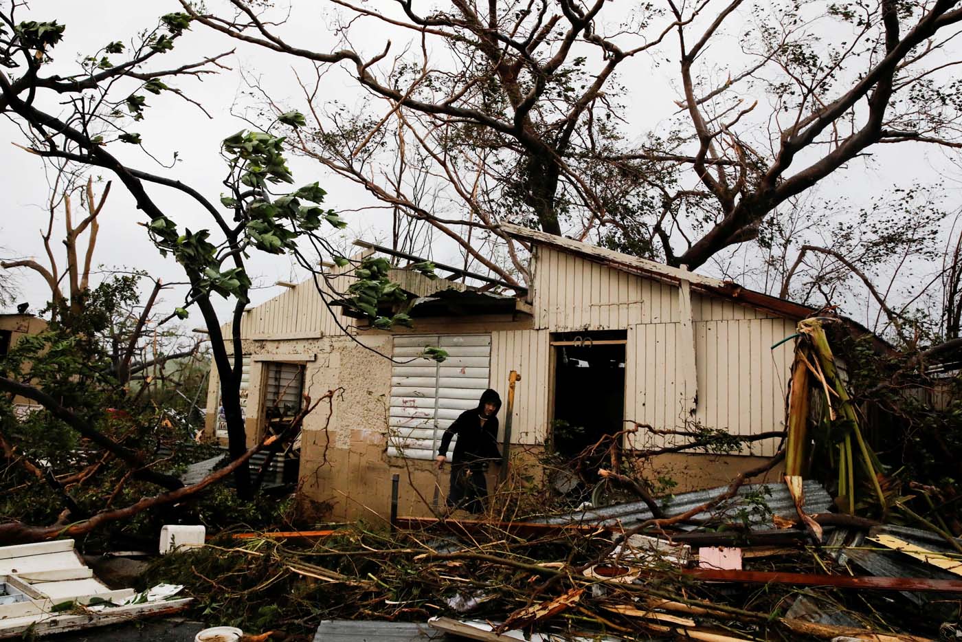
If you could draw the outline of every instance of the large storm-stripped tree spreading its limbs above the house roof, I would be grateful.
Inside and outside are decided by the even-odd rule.
[[[694,269],[879,145],[962,144],[949,70],[962,9],[950,0],[667,0],[627,13],[610,0],[423,11],[332,0],[341,40],[329,49],[294,41],[269,7],[231,0],[228,15],[181,4],[215,31],[313,65],[298,71],[314,108],[295,137],[301,151],[428,220],[505,279],[523,265],[514,256],[513,270],[488,265],[469,232],[519,221]],[[366,54],[351,38],[363,29],[405,44]],[[718,48],[727,64],[707,53]],[[630,83],[664,61],[680,90],[665,108],[678,111],[647,133],[626,116],[620,86],[638,90]],[[319,99],[335,66],[371,96],[363,113]],[[419,206],[381,170],[400,153],[429,163],[451,215]]]

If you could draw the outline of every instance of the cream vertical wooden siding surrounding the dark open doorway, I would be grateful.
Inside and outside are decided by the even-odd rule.
[[[683,333],[676,285],[543,245],[535,247],[534,262],[536,329],[493,334],[494,387],[504,395],[508,372],[522,376],[512,441],[544,440],[550,416],[549,333],[574,330],[627,330],[626,420],[675,429],[687,419],[745,435],[783,428],[793,345],[771,347],[795,332],[796,321],[721,296],[692,293],[692,329]],[[693,333],[694,382],[686,379],[691,369],[683,367],[681,349]],[[695,391],[691,415],[686,395]],[[644,448],[669,442],[646,435],[633,443]],[[771,439],[743,452],[771,455],[776,446]]]

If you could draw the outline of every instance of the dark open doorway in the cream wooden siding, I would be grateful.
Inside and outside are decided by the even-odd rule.
[[[621,429],[625,332],[565,333],[554,336],[551,344],[555,363],[553,447],[561,455],[574,457],[604,435]]]

